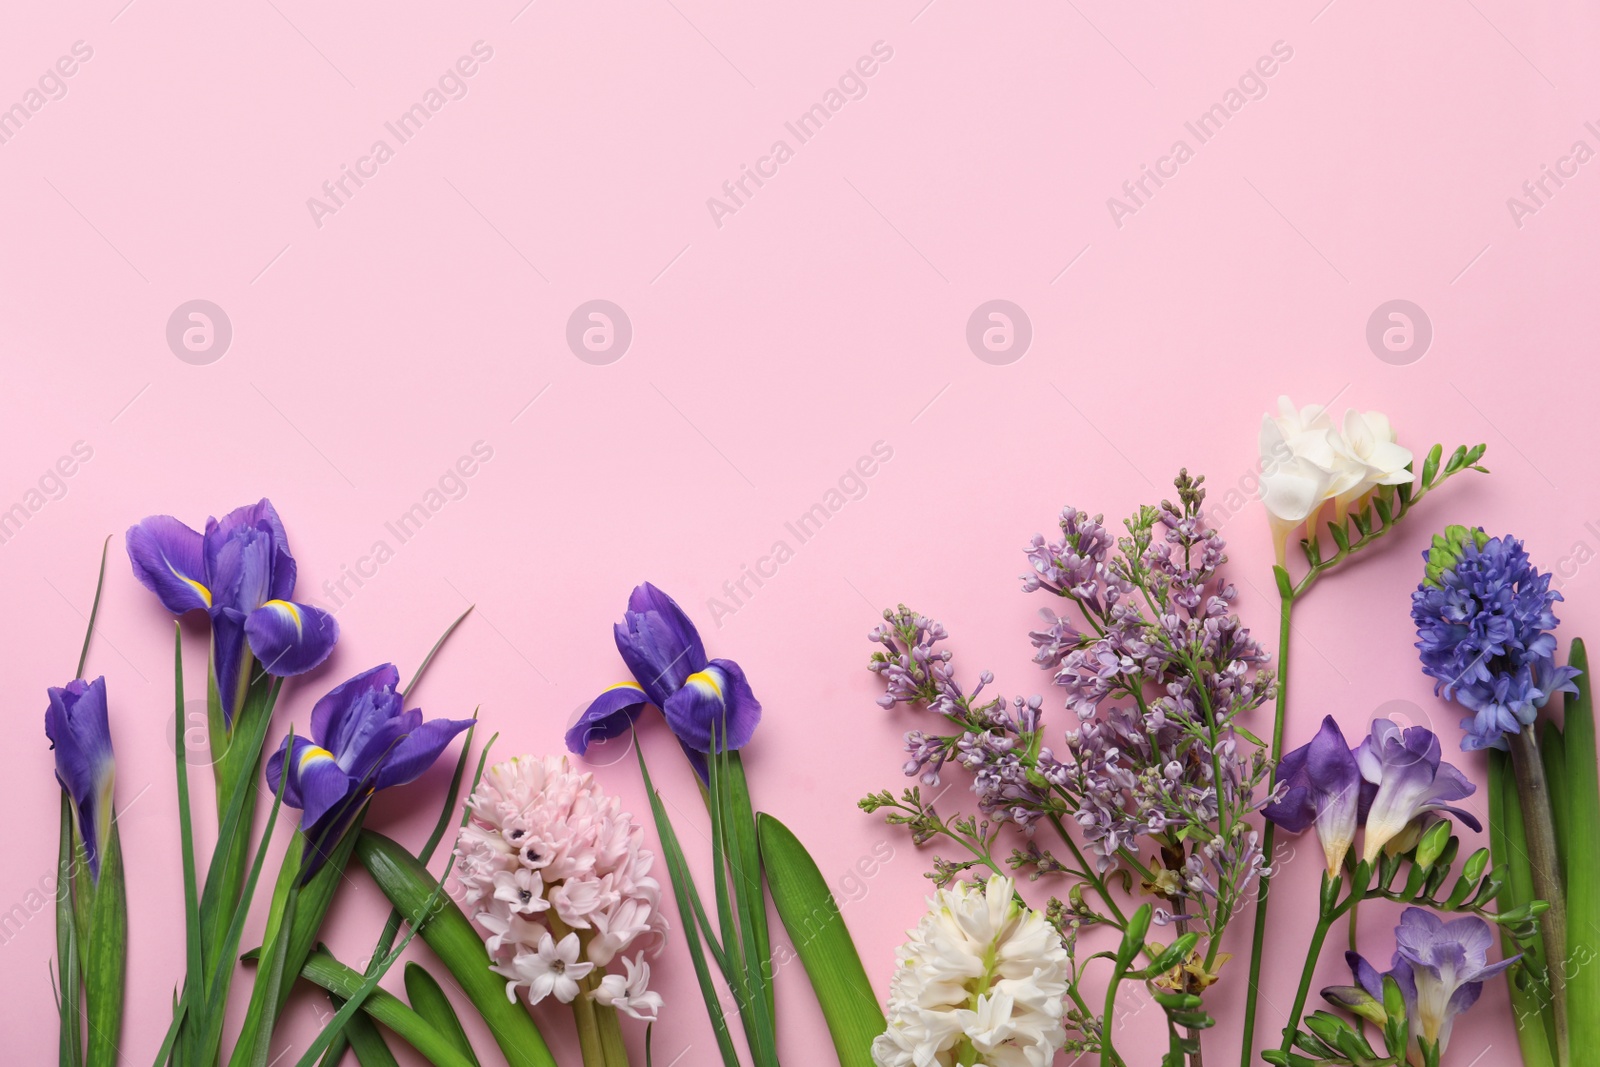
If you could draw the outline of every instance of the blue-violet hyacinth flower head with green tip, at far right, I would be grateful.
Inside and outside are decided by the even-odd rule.
[[[1555,665],[1552,605],[1562,593],[1533,566],[1522,541],[1450,526],[1422,553],[1411,593],[1422,670],[1434,691],[1472,712],[1461,747],[1506,749],[1557,693],[1573,693],[1573,667]]]

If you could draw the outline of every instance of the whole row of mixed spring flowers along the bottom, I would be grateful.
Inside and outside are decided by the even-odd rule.
[[[1427,526],[1427,498],[1488,474],[1483,454],[1413,453],[1371,411],[1336,418],[1285,398],[1264,416],[1275,646],[1235,609],[1238,565],[1208,520],[1205,478],[1189,470],[1173,499],[1120,523],[1069,504],[1050,536],[1019,533],[1021,589],[1048,606],[1016,637],[1048,694],[1002,696],[994,673],[955,665],[958,638],[938,621],[885,611],[866,659],[882,686],[875,713],[904,726],[904,752],[885,761],[901,760],[912,781],[858,806],[922,851],[928,886],[901,902],[906,941],[882,989],[781,822],[782,797],[746,777],[742,750],[762,741],[757,694],[781,681],[714,654],[728,649],[709,649],[664,590],[642,582],[626,597],[611,635],[621,680],[597,678],[544,750],[502,753],[480,737],[493,723],[478,721],[470,694],[450,697],[446,713],[411,701],[461,619],[408,675],[378,664],[333,686],[291,681],[328,659],[339,625],[294,600],[296,560],[272,504],[203,530],[144,518],[123,547],[133,577],[176,619],[170,822],[184,888],[184,971],[155,1064],[277,1062],[283,1006],[306,984],[331,1011],[298,1067],[392,1064],[395,1043],[438,1067],[549,1065],[552,1027],[576,1032],[587,1067],[629,1064],[629,1048],[651,1064],[651,1027],[701,1011],[717,1051],[696,1062],[774,1065],[782,936],[814,993],[814,1008],[798,1009],[816,1011],[811,1025],[826,1027],[843,1067],[1131,1067],[1117,1021],[1134,1001],[1158,1011],[1162,1067],[1202,1067],[1224,1003],[1243,1006],[1242,1067],[1470,1067],[1477,1053],[1451,1049],[1451,1030],[1491,982],[1507,987],[1523,1064],[1582,1064],[1600,1048],[1587,661],[1578,638],[1563,649],[1562,595],[1515,536]],[[1355,565],[1402,525],[1429,539],[1410,595],[1418,661],[1438,701],[1459,705],[1461,728],[1379,717],[1347,734],[1294,710],[1291,621],[1314,609],[1306,601],[1325,579],[1366,581]],[[96,609],[126,574],[107,555]],[[210,633],[203,673],[182,656],[182,629],[197,625]],[[86,677],[93,635],[91,613],[77,677],[42,680],[61,789],[50,981],[64,1067],[118,1062],[126,982],[152,981],[128,973],[133,873],[112,742],[123,726],[115,680]],[[186,696],[200,691],[206,790],[192,789],[182,737]],[[283,737],[269,750],[274,720]],[[632,760],[606,768],[586,760],[600,742],[662,729],[698,797],[658,790],[654,747],[646,758],[635,744]],[[1456,752],[1478,750],[1488,773],[1475,781]],[[440,760],[454,766],[442,795],[419,781]],[[648,813],[626,811],[614,792],[634,774]],[[382,790],[438,813],[419,851],[376,824]],[[214,795],[214,840],[195,832],[197,792]],[[1462,803],[1475,795],[1486,827]],[[808,803],[848,817],[851,800]],[[258,805],[269,805],[259,833]],[[686,813],[696,833],[680,832]],[[1485,830],[1483,848],[1462,838]],[[1315,848],[1280,849],[1288,835]],[[1320,867],[1314,899],[1277,901],[1285,862]],[[371,915],[360,966],[318,939],[350,867],[389,904]],[[1373,939],[1357,913],[1379,904],[1397,921]],[[251,909],[266,917],[259,941],[245,937]],[[1315,926],[1294,945],[1304,966],[1269,1032],[1261,961],[1288,909]],[[390,977],[413,941],[426,949]],[[694,982],[656,981],[662,952],[683,953]],[[1314,989],[1328,960],[1349,981]],[[464,1024],[467,1005],[483,1027]],[[627,1041],[629,1029],[640,1037]]]

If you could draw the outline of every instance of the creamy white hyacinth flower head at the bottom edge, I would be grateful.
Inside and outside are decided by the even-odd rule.
[[[1066,1043],[1067,950],[1014,883],[954,885],[894,953],[880,1067],[1046,1067]]]

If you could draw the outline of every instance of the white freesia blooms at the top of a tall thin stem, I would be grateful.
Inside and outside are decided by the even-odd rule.
[[[1389,418],[1378,411],[1344,413],[1334,422],[1322,405],[1296,408],[1278,397],[1278,413],[1261,418],[1261,502],[1272,525],[1278,566],[1290,536],[1301,526],[1315,536],[1326,504],[1334,522],[1379,485],[1406,485],[1411,451],[1395,443]]]

